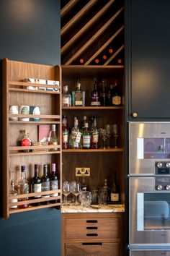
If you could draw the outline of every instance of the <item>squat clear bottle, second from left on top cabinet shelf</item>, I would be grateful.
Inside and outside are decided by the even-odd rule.
[[[85,106],[85,91],[81,90],[81,83],[79,80],[76,83],[76,90],[73,90],[71,95],[73,106]]]

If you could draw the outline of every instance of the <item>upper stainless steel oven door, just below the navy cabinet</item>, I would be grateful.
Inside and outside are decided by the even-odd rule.
[[[169,122],[130,122],[129,153],[132,175],[155,173],[155,161],[170,161]]]

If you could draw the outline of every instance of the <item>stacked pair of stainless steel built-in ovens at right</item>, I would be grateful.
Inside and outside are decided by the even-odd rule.
[[[170,256],[170,122],[130,122],[128,176],[130,255]]]

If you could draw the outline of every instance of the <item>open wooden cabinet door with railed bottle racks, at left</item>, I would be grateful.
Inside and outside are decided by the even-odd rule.
[[[44,80],[61,80],[60,67],[52,67],[42,64],[32,64],[22,61],[3,60],[3,179],[4,179],[4,218],[9,218],[9,214],[24,210],[36,210],[61,205],[61,189],[58,189],[58,202],[49,205],[40,205],[37,207],[10,210],[9,197],[11,171],[14,171],[14,180],[20,179],[20,166],[26,166],[27,180],[30,182],[34,176],[34,165],[40,165],[40,176],[42,176],[42,165],[56,163],[58,179],[61,181],[61,88],[59,91],[28,90],[27,86],[37,87],[37,84],[22,82],[25,78],[37,78]],[[52,85],[39,85],[45,88],[54,88]],[[9,114],[9,106],[40,106],[40,121],[9,121],[10,116],[22,117],[21,114]],[[25,115],[26,117],[36,117],[36,115]],[[57,151],[36,151],[23,153],[22,148],[17,146],[19,131],[28,129],[32,142],[38,141],[39,124],[56,124],[58,133]],[[47,146],[46,149],[53,147]],[[31,146],[30,149],[35,149]],[[61,185],[59,185],[59,188]],[[30,190],[29,190],[30,191]],[[48,195],[51,192],[45,192]],[[40,193],[39,193],[40,194]],[[39,195],[37,193],[37,195]],[[42,202],[45,198],[34,199],[34,194],[29,193],[26,202]],[[24,198],[25,195],[17,195],[17,198]],[[27,198],[26,197],[26,198]],[[32,198],[33,197],[33,198]],[[50,197],[52,199],[53,197]],[[55,198],[56,199],[56,198]],[[47,199],[46,199],[47,200]],[[49,199],[48,199],[49,200]],[[22,201],[24,202],[24,201]],[[21,205],[22,202],[15,202]],[[14,203],[13,203],[14,204]]]

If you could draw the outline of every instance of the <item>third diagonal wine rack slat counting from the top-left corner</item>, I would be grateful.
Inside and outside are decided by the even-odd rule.
[[[89,22],[86,23],[86,25],[84,25],[84,27],[82,27],[78,33],[76,33],[76,35],[73,35],[73,37],[71,38],[71,40],[68,41],[68,43],[66,43],[62,48],[61,48],[61,54],[63,54],[69,47],[72,46],[73,43],[76,42],[76,40],[81,37],[81,35],[83,33],[86,32],[86,30],[88,30],[91,25],[94,24],[94,22],[97,22],[97,20],[99,19],[99,17],[101,17],[104,12],[107,11],[107,9],[109,9],[109,7],[111,6],[111,4],[114,2],[115,0],[110,0],[99,12],[97,12],[96,15],[94,15],[94,17],[89,20]]]

